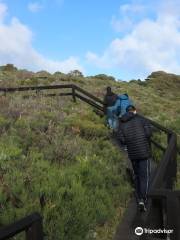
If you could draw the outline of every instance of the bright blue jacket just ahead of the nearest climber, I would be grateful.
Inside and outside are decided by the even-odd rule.
[[[116,106],[116,115],[121,117],[123,114],[126,113],[126,108],[129,105],[134,105],[133,101],[129,98],[128,94],[121,94],[118,95],[118,99],[115,103]]]

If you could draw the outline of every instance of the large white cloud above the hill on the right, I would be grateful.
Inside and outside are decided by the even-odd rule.
[[[102,69],[118,68],[132,77],[145,77],[157,70],[180,74],[179,14],[177,6],[170,4],[170,12],[163,6],[154,20],[141,19],[130,32],[112,40],[102,55],[89,51],[87,60]],[[123,11],[129,9],[128,5]]]

